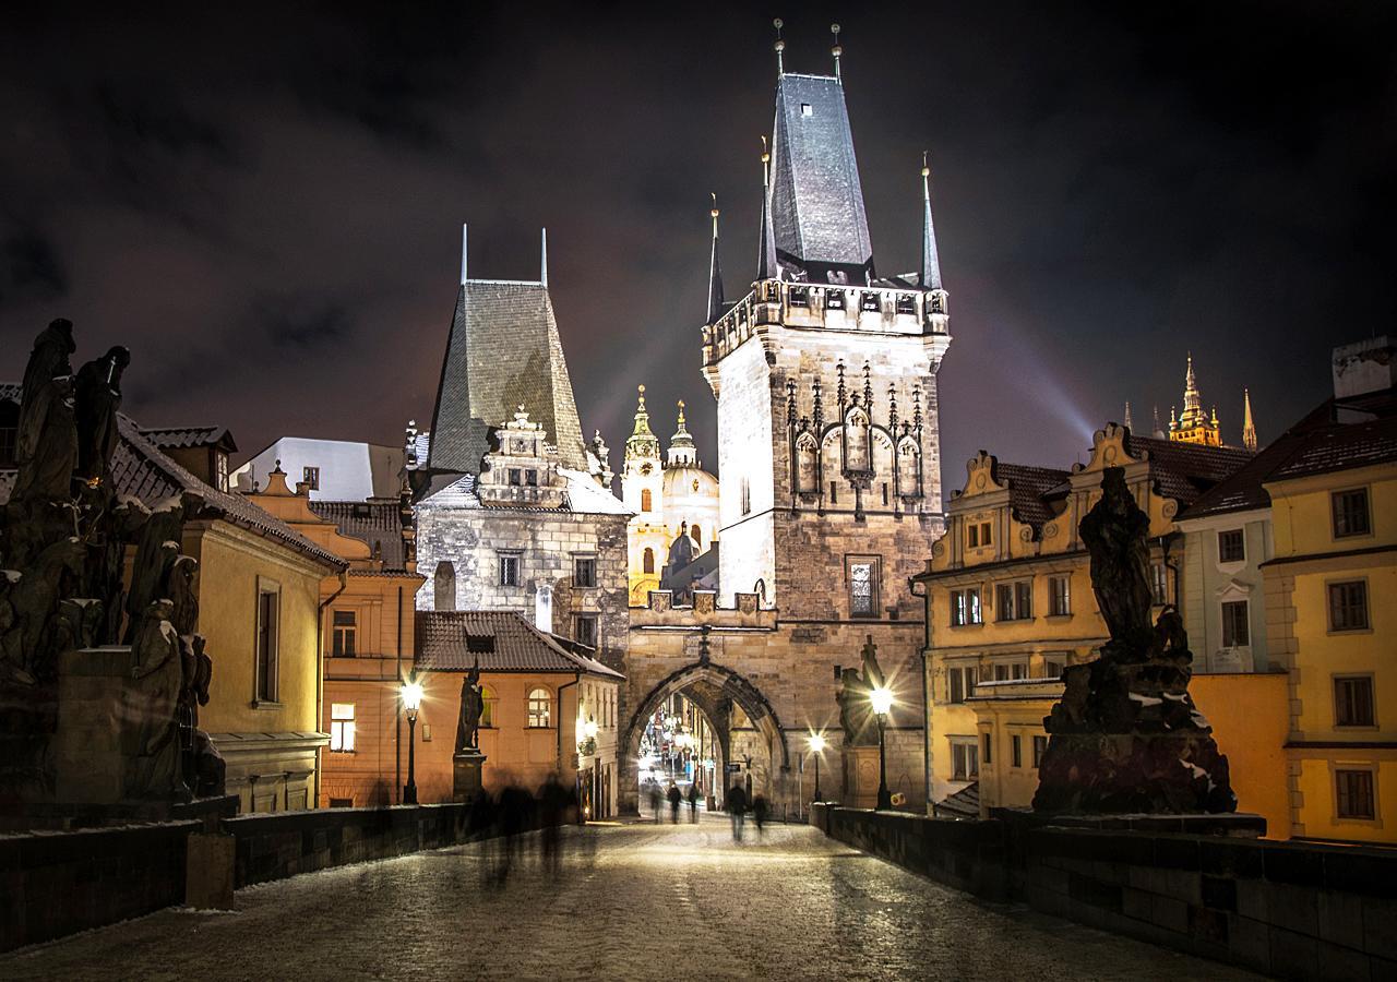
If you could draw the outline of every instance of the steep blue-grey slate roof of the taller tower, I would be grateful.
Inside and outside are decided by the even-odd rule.
[[[787,73],[777,82],[771,226],[784,267],[824,282],[872,275],[873,242],[844,87],[827,75]]]

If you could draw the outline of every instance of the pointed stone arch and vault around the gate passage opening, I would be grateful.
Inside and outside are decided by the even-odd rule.
[[[731,703],[740,708],[766,743],[767,760],[761,763],[768,786],[760,788],[760,791],[768,796],[778,791],[778,784],[791,768],[791,749],[787,745],[785,731],[781,728],[781,721],[777,718],[771,703],[767,701],[767,697],[756,686],[732,669],[698,661],[685,665],[655,684],[645,698],[640,701],[634,712],[631,712],[620,743],[619,792],[623,810],[630,813],[638,810],[638,754],[640,738],[644,733],[645,721],[675,693],[680,693],[693,701],[717,735],[718,756],[715,760],[718,774],[724,772],[724,764],[732,759],[732,733],[728,725],[729,714],[724,712],[724,704]]]

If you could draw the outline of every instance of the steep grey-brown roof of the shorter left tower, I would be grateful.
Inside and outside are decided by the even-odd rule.
[[[467,279],[455,299],[427,468],[478,474],[489,430],[518,406],[543,425],[559,461],[587,468],[553,300],[541,282]]]

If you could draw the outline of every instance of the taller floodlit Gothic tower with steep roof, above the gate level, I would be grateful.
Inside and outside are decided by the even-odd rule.
[[[719,603],[756,591],[782,619],[916,616],[905,577],[943,527],[936,373],[951,339],[929,170],[921,268],[883,277],[838,64],[780,71],[761,161],[756,279],[722,302],[715,219],[703,328]]]

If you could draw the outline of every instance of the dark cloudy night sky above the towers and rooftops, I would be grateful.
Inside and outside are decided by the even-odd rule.
[[[781,15],[791,71],[844,28],[884,275],[918,265],[930,152],[947,488],[977,447],[1065,467],[1125,400],[1166,418],[1190,349],[1224,437],[1243,386],[1274,437],[1333,345],[1394,327],[1393,6],[1048,6],[11,10],[0,377],[66,316],[74,365],[131,348],[142,425],[395,444],[430,420],[461,223],[472,275],[521,279],[546,225],[584,432],[619,467],[645,383],[712,461],[708,191],[735,299]]]

